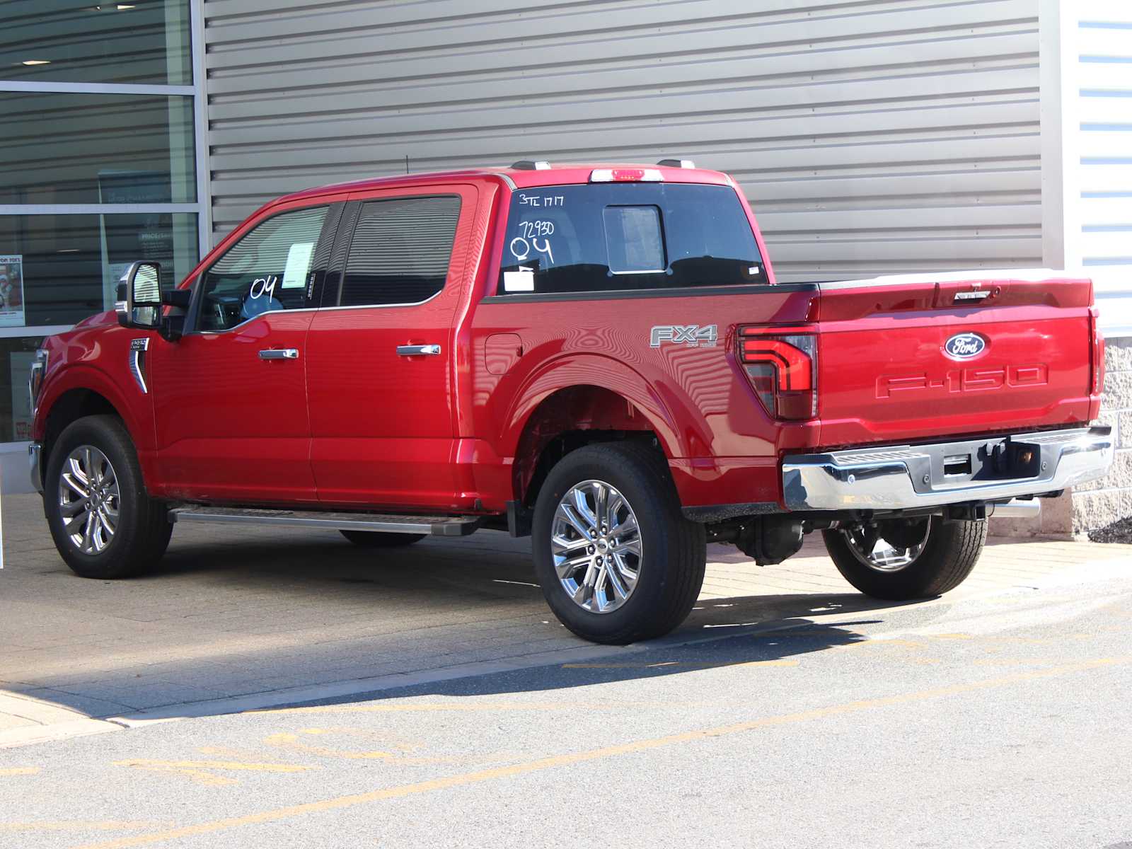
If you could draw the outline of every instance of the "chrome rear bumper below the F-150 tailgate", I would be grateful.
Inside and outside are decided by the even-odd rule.
[[[1037,452],[1035,474],[1019,478],[950,475],[945,458],[978,463],[1001,443]],[[966,501],[1001,501],[1065,489],[1103,478],[1113,463],[1112,428],[1073,428],[928,445],[797,454],[782,463],[782,491],[791,511],[908,509]]]

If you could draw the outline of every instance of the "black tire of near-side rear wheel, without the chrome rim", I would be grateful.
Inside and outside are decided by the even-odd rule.
[[[603,481],[631,505],[642,557],[635,589],[617,609],[594,612],[575,603],[558,580],[550,538],[559,501],[576,484]],[[663,457],[635,443],[589,445],[555,465],[539,490],[532,522],[534,571],[559,621],[594,643],[626,644],[667,634],[687,617],[704,580],[707,547],[702,524],[680,513]]]

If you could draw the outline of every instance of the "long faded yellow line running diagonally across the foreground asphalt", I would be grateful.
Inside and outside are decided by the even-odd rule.
[[[1001,678],[990,678],[981,681],[971,681],[968,684],[953,684],[946,687],[920,689],[912,693],[902,693],[899,695],[883,696],[880,698],[861,698],[854,702],[844,702],[842,704],[829,705],[826,707],[815,707],[808,711],[798,711],[796,713],[782,713],[773,717],[763,717],[761,719],[749,720],[747,722],[736,722],[734,724],[718,726],[715,728],[706,728],[698,731],[684,731],[681,734],[672,734],[672,735],[667,735],[664,737],[653,737],[651,739],[634,740],[632,743],[624,743],[617,746],[604,746],[602,748],[588,749],[584,752],[575,752],[572,754],[551,755],[549,757],[541,757],[535,761],[526,761],[524,763],[511,764],[508,766],[495,766],[487,770],[478,770],[475,772],[464,772],[456,775],[448,775],[445,778],[432,779],[430,781],[419,781],[412,784],[400,784],[396,787],[381,788],[379,790],[370,790],[369,792],[363,792],[363,794],[351,794],[348,796],[338,796],[331,799],[323,799],[320,801],[309,801],[302,805],[289,805],[280,808],[271,808],[268,811],[260,811],[255,814],[246,814],[243,816],[231,816],[231,817],[225,817],[223,820],[213,820],[212,822],[197,823],[196,825],[186,825],[179,829],[169,829],[166,831],[153,832],[151,834],[137,834],[135,837],[119,838],[117,840],[109,840],[101,843],[87,843],[82,847],[76,847],[75,849],[126,849],[127,847],[134,847],[134,846],[149,846],[153,843],[162,843],[168,840],[177,840],[178,838],[209,834],[213,832],[225,831],[228,829],[241,827],[245,825],[256,825],[258,823],[288,820],[295,816],[302,816],[305,814],[316,814],[325,811],[349,808],[355,805],[365,805],[372,801],[381,801],[384,799],[397,799],[406,796],[418,796],[421,794],[434,792],[436,790],[446,790],[452,787],[477,784],[483,781],[492,781],[495,779],[509,778],[513,775],[524,775],[528,773],[541,772],[543,770],[551,770],[560,766],[572,766],[574,764],[586,763],[590,761],[600,761],[609,757],[616,757],[619,755],[629,755],[640,752],[649,752],[652,749],[664,748],[668,746],[675,746],[683,743],[694,743],[697,740],[712,739],[715,737],[727,737],[730,735],[744,734],[746,731],[753,731],[761,728],[784,726],[794,722],[807,722],[815,719],[823,719],[825,717],[837,717],[846,713],[856,713],[860,711],[873,710],[876,707],[891,707],[893,705],[909,704],[912,702],[923,702],[929,698],[941,698],[944,696],[960,695],[963,693],[974,693],[981,689],[1004,687],[1011,684],[1022,684],[1026,681],[1039,680],[1041,678],[1053,678],[1063,675],[1071,675],[1073,672],[1081,672],[1088,669],[1098,669],[1101,667],[1124,664],[1130,661],[1132,661],[1132,657],[1101,658],[1098,660],[1087,660],[1078,663],[1066,663],[1064,666],[1050,667],[1048,669],[1037,669],[1029,672],[1006,675],[1002,676]]]

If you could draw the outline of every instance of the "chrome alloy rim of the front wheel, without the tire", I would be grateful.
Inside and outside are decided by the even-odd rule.
[[[59,473],[59,513],[63,532],[84,555],[105,551],[118,530],[121,496],[106,455],[80,445],[67,455]]]

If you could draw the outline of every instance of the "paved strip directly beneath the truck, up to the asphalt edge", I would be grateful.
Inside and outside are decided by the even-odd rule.
[[[533,585],[529,540],[500,533],[374,552],[333,532],[186,526],[156,574],[102,582],[67,569],[34,496],[3,511],[0,745],[633,651],[568,634]],[[1130,566],[1132,547],[992,544],[927,603]],[[820,542],[763,568],[712,546],[700,604],[667,644],[886,607],[852,592]]]

